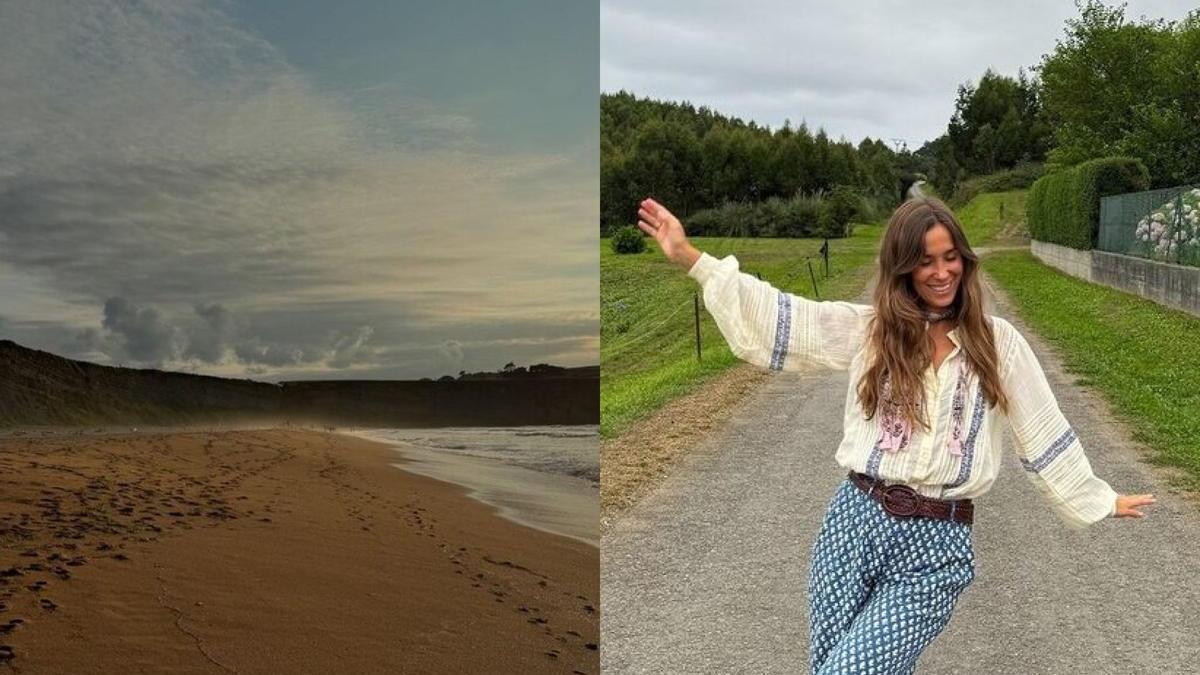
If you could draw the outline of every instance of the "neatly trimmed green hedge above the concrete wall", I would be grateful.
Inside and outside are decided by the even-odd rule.
[[[1039,241],[1094,249],[1100,197],[1148,187],[1146,166],[1132,157],[1102,157],[1048,173],[1030,189],[1030,234]]]

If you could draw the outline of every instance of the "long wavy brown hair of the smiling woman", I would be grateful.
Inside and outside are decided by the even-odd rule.
[[[1008,396],[1000,381],[996,338],[983,312],[979,258],[967,244],[962,226],[937,199],[908,199],[892,214],[880,249],[880,273],[875,285],[875,316],[868,333],[872,362],[858,382],[863,413],[871,419],[881,402],[896,406],[913,426],[929,429],[922,375],[934,357],[934,341],[925,333],[925,316],[918,304],[912,271],[925,256],[925,232],[935,225],[949,231],[962,259],[962,276],[954,295],[958,338],[971,369],[979,376],[989,405],[1008,412]],[[884,396],[884,380],[889,389]]]

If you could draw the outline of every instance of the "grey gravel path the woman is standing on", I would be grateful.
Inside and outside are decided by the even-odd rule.
[[[1096,472],[1154,492],[1141,520],[1062,525],[1010,440],[977,501],[976,581],[922,674],[1200,671],[1200,514],[1099,398],[1002,299],[1042,359]],[[604,673],[804,673],[809,551],[844,478],[845,372],[775,374],[720,431],[612,524],[601,545]]]

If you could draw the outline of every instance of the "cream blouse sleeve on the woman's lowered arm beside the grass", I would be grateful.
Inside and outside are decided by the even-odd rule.
[[[998,323],[998,322],[997,322]],[[1015,328],[1007,327],[1008,358],[1001,376],[1008,420],[1026,476],[1067,525],[1079,530],[1116,512],[1117,492],[1092,473],[1084,446],[1050,390],[1042,364]]]

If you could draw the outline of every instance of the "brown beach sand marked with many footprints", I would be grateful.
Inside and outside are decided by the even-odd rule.
[[[0,438],[14,673],[598,673],[599,551],[302,430]]]

